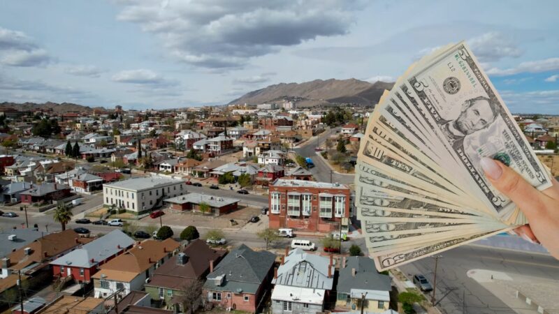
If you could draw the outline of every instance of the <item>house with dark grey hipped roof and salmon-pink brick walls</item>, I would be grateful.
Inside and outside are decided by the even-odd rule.
[[[273,253],[252,251],[241,244],[206,276],[205,301],[220,308],[256,313],[263,305],[261,301],[269,288],[274,262]]]

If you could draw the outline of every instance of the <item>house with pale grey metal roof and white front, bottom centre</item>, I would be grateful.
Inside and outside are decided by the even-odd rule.
[[[328,262],[328,257],[300,248],[289,251],[272,280],[272,313],[322,313],[333,288],[334,272],[332,255]]]

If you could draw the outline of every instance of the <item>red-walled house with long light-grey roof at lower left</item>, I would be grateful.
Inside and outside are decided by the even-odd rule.
[[[79,283],[89,283],[99,266],[131,248],[134,240],[120,230],[112,230],[50,262],[55,277],[71,276]]]

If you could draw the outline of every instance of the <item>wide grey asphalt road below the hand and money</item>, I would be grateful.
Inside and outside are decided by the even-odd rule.
[[[443,313],[515,313],[491,292],[467,277],[470,269],[488,269],[512,274],[547,278],[559,283],[559,262],[549,255],[530,254],[481,246],[460,246],[441,254],[437,267],[437,300],[450,287],[456,290],[442,299],[440,308]],[[433,283],[435,259],[424,258],[400,267],[400,270],[413,276],[422,273]],[[409,278],[411,278],[409,276]],[[463,304],[463,293],[465,302]]]

